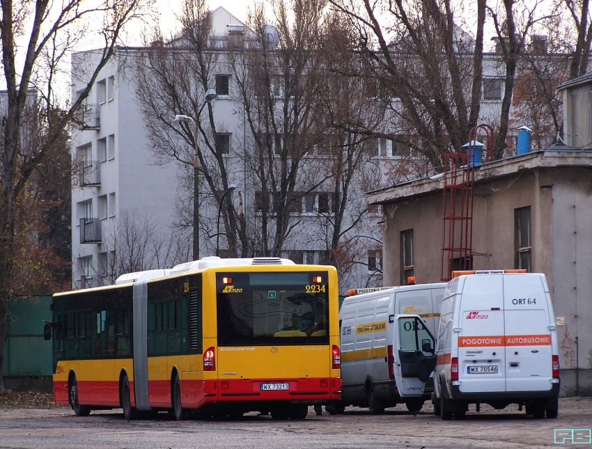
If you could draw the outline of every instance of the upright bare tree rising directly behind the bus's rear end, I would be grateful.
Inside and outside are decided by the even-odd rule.
[[[281,255],[303,222],[303,198],[329,179],[332,139],[325,136],[322,80],[323,1],[274,1],[274,19],[258,6],[249,17],[255,38],[231,50],[249,134],[244,155],[256,191],[254,253]],[[270,22],[273,26],[270,26]],[[244,70],[248,68],[248,70]],[[317,157],[322,153],[320,157]]]

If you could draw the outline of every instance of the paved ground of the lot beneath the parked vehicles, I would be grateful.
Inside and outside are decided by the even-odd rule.
[[[348,407],[343,415],[272,420],[249,413],[240,420],[132,421],[120,410],[77,418],[69,407],[0,406],[2,448],[592,448],[592,397],[563,397],[559,418],[537,420],[510,406],[474,406],[462,421],[442,421],[432,407],[405,406],[371,416]],[[563,430],[557,434],[557,430]],[[573,431],[575,430],[575,431]],[[579,431],[578,431],[579,430]]]

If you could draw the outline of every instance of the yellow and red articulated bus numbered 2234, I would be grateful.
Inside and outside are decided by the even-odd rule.
[[[56,293],[54,400],[177,420],[269,412],[304,419],[340,398],[336,269],[208,257]]]

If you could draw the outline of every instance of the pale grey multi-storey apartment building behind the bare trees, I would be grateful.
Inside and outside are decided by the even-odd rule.
[[[212,12],[210,47],[222,49],[220,61],[225,57],[223,49],[229,39],[236,36],[248,39],[250,32],[224,8]],[[272,44],[273,38],[273,29],[270,29]],[[130,70],[134,58],[141,57],[141,48],[118,49],[93,86],[72,135],[72,150],[79,168],[78,184],[72,189],[74,287],[112,283],[126,266],[162,268],[192,258],[191,223],[187,221],[187,214],[185,221],[179,214],[180,208],[185,207],[187,211],[192,207],[192,191],[187,188],[190,176],[188,178],[187,166],[173,162],[162,164],[152,151],[137,98],[137,82]],[[92,67],[92,63],[93,52],[73,56],[73,95],[82,88],[85,69]],[[499,55],[486,57],[481,113],[484,120],[499,111],[503,69]],[[244,157],[244,152],[255,148],[255,136],[245,123],[244,104],[234,95],[236,80],[228,65],[219,63],[214,71],[211,82],[217,90],[217,99],[212,107],[219,127],[217,135],[212,137],[225,148],[228,180],[235,185],[228,195],[237,210],[247,217],[249,233],[258,233],[262,192]],[[179,126],[174,123],[172,112],[170,126]],[[382,129],[382,133],[389,134],[389,129]],[[203,145],[199,141],[198,144]],[[412,157],[396,136],[392,139],[383,136],[368,145],[369,157],[360,164],[359,173],[350,182],[347,207],[351,213],[345,214],[343,225],[350,229],[343,240],[355,250],[349,256],[352,268],[340,278],[342,292],[350,287],[382,285],[382,205],[368,206],[365,192],[433,173],[430,165],[421,159],[412,160],[412,168],[398,171],[397,167],[408,164]],[[327,160],[322,149],[311,151],[304,161],[299,182],[306,184],[307,178],[327,165]],[[203,184],[199,189],[202,189],[200,257],[216,252],[223,256],[237,255],[228,253],[226,236],[221,233],[218,197],[208,192]],[[293,228],[283,243],[283,257],[298,263],[328,260],[327,244],[337,200],[334,187],[325,182],[313,191],[306,190],[302,198],[295,201],[290,210]]]

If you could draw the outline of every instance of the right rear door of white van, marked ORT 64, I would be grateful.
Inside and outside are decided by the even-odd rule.
[[[545,391],[553,377],[547,293],[537,274],[504,276],[507,391]]]

